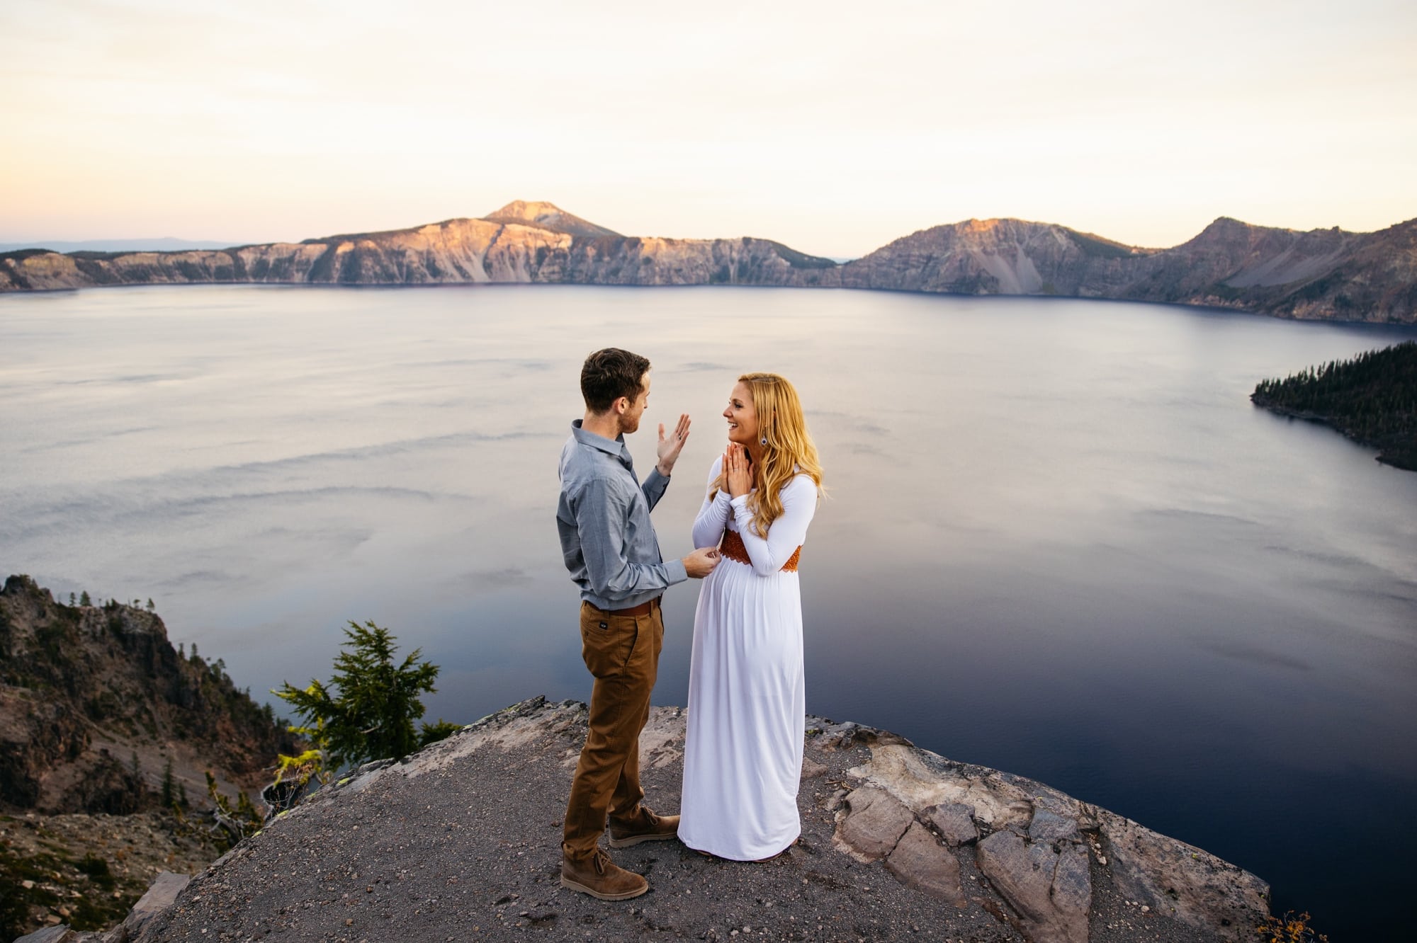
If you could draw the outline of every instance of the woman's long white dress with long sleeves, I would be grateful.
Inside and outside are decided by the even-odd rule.
[[[721,466],[720,457],[708,490]],[[724,558],[699,590],[679,838],[738,861],[775,855],[802,833],[802,592],[782,565],[806,539],[816,484],[798,474],[781,497],[765,539],[752,531],[747,496],[706,497],[694,521],[694,547],[717,547],[733,530],[752,564]]]

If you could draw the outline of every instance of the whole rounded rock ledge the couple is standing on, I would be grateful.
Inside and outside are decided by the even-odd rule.
[[[650,892],[605,903],[558,884],[561,814],[585,705],[533,698],[402,762],[371,763],[154,886],[102,940],[976,943],[1243,940],[1264,881],[1041,783],[907,741],[808,719],[802,838],[758,864],[677,842],[614,852]],[[684,711],[640,738],[646,801],[677,808]],[[41,937],[28,937],[30,942]]]

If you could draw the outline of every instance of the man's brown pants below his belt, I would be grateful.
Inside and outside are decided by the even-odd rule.
[[[656,599],[649,615],[619,616],[581,603],[581,657],[595,675],[589,729],[575,765],[565,806],[567,858],[595,854],[605,816],[626,820],[639,813],[639,732],[649,719],[665,617]]]

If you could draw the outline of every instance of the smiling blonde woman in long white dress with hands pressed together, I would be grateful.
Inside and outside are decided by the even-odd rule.
[[[723,412],[728,450],[708,471],[694,547],[718,545],[694,612],[679,838],[737,861],[802,833],[802,593],[798,556],[822,466],[796,389],[744,374]]]

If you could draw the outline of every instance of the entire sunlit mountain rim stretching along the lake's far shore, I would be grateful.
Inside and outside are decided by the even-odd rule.
[[[550,202],[478,219],[183,252],[0,253],[0,292],[105,285],[762,285],[1202,304],[1417,324],[1417,219],[1379,232],[1221,217],[1169,249],[1050,222],[968,219],[845,263],[757,238],[625,236]]]

